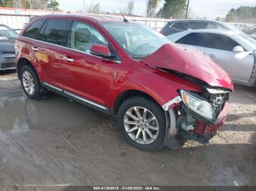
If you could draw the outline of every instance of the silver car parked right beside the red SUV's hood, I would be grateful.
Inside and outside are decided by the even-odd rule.
[[[256,41],[239,31],[200,29],[167,36],[184,47],[196,47],[218,63],[233,82],[256,86]]]

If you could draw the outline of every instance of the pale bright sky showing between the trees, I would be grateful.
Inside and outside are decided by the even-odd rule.
[[[60,9],[67,12],[83,11],[83,7],[89,7],[91,4],[100,3],[100,8],[104,12],[119,12],[119,9],[124,9],[130,0],[59,0]],[[146,15],[147,0],[133,0],[134,14]],[[164,0],[159,4],[162,7]],[[193,17],[206,17],[214,19],[216,17],[225,17],[231,8],[240,6],[256,7],[256,0],[190,0],[189,9]]]

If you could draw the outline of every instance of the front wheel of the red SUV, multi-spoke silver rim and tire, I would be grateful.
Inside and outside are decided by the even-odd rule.
[[[162,149],[165,139],[165,112],[148,98],[132,97],[118,109],[118,130],[133,147],[143,151]]]

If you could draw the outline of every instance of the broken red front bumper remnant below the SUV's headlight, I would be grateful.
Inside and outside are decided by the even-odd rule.
[[[199,135],[211,135],[215,134],[219,128],[222,127],[223,123],[225,122],[227,118],[227,112],[229,108],[229,103],[226,102],[224,108],[222,109],[222,112],[217,117],[216,122],[214,122],[213,125],[207,124],[203,121],[198,121],[195,125],[195,129],[193,130],[193,133],[197,133]]]

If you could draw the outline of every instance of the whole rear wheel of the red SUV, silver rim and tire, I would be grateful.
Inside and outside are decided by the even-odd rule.
[[[36,71],[29,66],[23,66],[20,69],[20,82],[24,93],[31,99],[40,99],[45,93],[45,87],[39,82]]]

